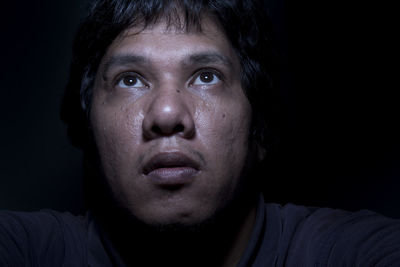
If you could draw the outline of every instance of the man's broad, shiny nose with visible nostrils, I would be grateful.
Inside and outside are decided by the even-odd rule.
[[[151,93],[143,119],[143,135],[147,140],[177,135],[190,139],[195,133],[191,105],[184,92],[162,88]]]

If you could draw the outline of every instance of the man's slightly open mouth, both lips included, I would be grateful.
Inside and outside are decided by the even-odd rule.
[[[160,153],[144,166],[143,173],[159,186],[180,186],[190,183],[199,172],[199,164],[192,158],[179,153]]]

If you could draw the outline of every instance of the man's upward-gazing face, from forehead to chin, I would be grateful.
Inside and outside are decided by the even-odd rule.
[[[91,125],[106,180],[139,220],[201,223],[235,197],[251,107],[225,34],[159,23],[119,36],[96,76]]]

